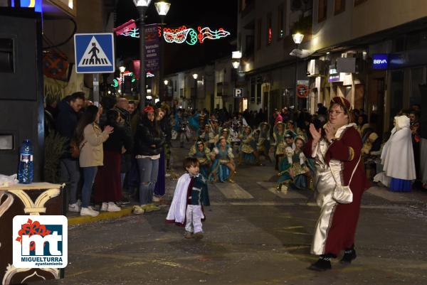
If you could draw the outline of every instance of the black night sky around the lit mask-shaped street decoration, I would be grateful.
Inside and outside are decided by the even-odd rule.
[[[149,6],[146,23],[159,23],[160,18],[154,8]],[[132,0],[120,0],[117,5],[115,26],[139,17]],[[237,0],[169,0],[171,8],[165,18],[167,27],[182,25],[197,29],[197,26],[209,26],[212,30],[224,28],[231,33],[226,38],[215,41],[206,40],[196,45],[165,43],[164,73],[169,74],[209,63],[216,58],[231,56],[236,46],[231,44],[237,38]],[[139,58],[139,39],[124,36],[117,37],[117,57]]]

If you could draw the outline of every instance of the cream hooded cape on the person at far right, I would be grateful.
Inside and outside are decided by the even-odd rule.
[[[403,116],[402,116],[403,117]],[[400,117],[396,117],[396,119]],[[406,119],[406,118],[405,118]],[[409,119],[407,119],[409,121]],[[399,124],[400,122],[397,122]],[[411,140],[411,129],[407,125],[390,136],[381,153],[381,164],[386,176],[403,180],[416,178],[415,161]]]

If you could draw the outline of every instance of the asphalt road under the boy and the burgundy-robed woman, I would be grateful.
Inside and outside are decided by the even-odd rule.
[[[177,172],[185,150],[173,149]],[[69,229],[65,279],[43,284],[427,284],[427,193],[365,193],[358,257],[307,270],[319,209],[309,190],[278,195],[273,167],[241,166],[236,184],[209,184],[203,240],[167,225],[168,207]],[[176,181],[167,180],[170,200]]]

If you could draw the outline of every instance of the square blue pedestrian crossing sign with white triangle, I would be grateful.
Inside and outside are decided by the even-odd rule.
[[[76,73],[115,72],[112,33],[76,33],[74,54]]]

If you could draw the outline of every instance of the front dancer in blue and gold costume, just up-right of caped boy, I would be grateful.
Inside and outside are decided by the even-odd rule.
[[[233,178],[236,174],[236,166],[234,165],[234,155],[230,144],[227,144],[226,138],[221,136],[216,144],[216,147],[211,152],[212,163],[211,174],[209,181],[228,181],[234,183]]]

